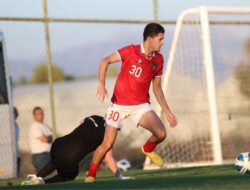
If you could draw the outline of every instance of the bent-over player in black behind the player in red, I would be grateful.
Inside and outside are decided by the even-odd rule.
[[[102,142],[105,131],[105,120],[101,116],[93,115],[84,121],[70,134],[57,138],[50,151],[51,161],[36,175],[28,175],[23,185],[55,183],[74,180],[79,172],[79,162],[90,152],[94,151]],[[119,179],[128,179],[117,168],[111,150],[105,159],[111,171]],[[53,171],[57,175],[44,179]]]

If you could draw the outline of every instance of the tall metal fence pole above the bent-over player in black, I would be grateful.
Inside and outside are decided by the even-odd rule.
[[[53,76],[52,76],[52,63],[51,63],[51,49],[50,49],[50,38],[49,38],[49,19],[48,19],[48,11],[47,11],[47,0],[43,0],[43,13],[44,13],[44,30],[45,30],[45,40],[46,40],[47,66],[48,66],[51,127],[52,127],[53,137],[56,137],[54,85],[53,85]]]

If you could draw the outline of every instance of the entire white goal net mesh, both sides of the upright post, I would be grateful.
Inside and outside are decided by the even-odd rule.
[[[210,35],[215,75],[215,81],[209,82],[214,82],[216,88],[224,160],[233,160],[238,152],[247,151],[245,142],[249,144],[250,139],[247,132],[250,129],[247,124],[250,121],[247,117],[250,96],[249,93],[248,97],[244,95],[240,89],[240,85],[243,89],[249,87],[250,76],[249,70],[242,72],[249,69],[250,63],[250,52],[244,45],[247,39],[249,43],[250,26],[242,24],[246,18],[249,14],[209,14],[210,22],[213,21],[210,23]],[[214,160],[203,39],[200,15],[187,14],[183,19],[165,91],[179,123],[177,128],[168,129],[168,140],[157,149],[170,165]]]

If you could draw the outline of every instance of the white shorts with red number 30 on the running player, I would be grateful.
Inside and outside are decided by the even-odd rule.
[[[108,112],[105,118],[106,124],[120,129],[122,127],[122,121],[130,117],[134,124],[138,125],[142,115],[152,110],[153,108],[149,103],[135,106],[123,106],[111,103],[108,107]]]

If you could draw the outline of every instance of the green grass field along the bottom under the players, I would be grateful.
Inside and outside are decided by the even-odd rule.
[[[4,189],[250,189],[250,175],[241,175],[233,165],[162,169],[130,170],[125,175],[134,179],[118,180],[110,172],[99,172],[93,184],[83,182],[81,173],[73,182],[37,186],[19,186],[22,179],[1,180]],[[11,185],[12,183],[12,185]],[[8,185],[9,184],[9,185]]]

